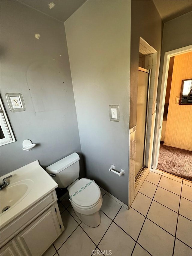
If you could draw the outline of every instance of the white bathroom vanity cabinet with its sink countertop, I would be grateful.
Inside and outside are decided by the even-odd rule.
[[[10,184],[0,191],[1,256],[40,256],[64,230],[58,185],[38,161],[2,176],[1,183],[9,175]]]

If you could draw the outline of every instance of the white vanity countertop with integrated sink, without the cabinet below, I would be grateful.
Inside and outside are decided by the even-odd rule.
[[[39,165],[38,160],[1,176],[1,184],[2,180],[10,175],[13,175],[7,179],[10,184],[0,190],[0,228],[25,212],[58,186],[54,179]]]

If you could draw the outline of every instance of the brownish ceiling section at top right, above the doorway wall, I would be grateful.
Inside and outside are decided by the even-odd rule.
[[[164,23],[192,11],[191,0],[153,0],[153,2]]]

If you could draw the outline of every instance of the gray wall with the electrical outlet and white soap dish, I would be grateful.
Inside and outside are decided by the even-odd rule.
[[[26,111],[10,112],[8,92],[22,93]],[[17,1],[1,1],[1,97],[16,137],[1,146],[1,175],[81,152],[64,23]],[[22,150],[25,139],[37,146]]]

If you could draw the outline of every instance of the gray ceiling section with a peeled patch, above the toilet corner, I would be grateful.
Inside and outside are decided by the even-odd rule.
[[[82,0],[21,0],[22,4],[35,8],[61,22],[65,22],[85,1]],[[55,6],[49,9],[49,4],[53,2]]]

